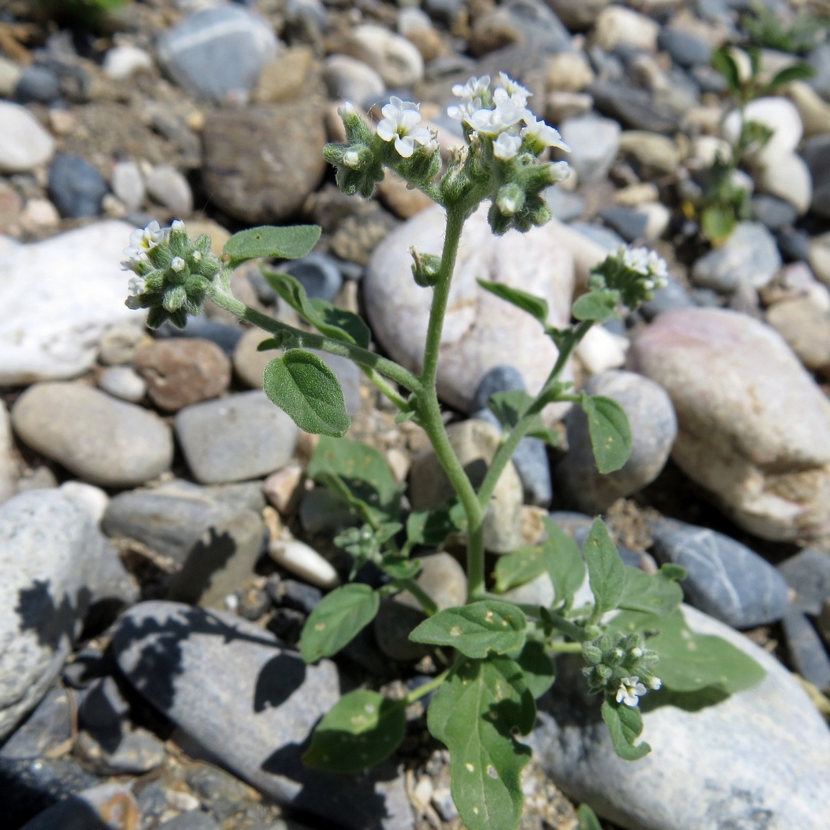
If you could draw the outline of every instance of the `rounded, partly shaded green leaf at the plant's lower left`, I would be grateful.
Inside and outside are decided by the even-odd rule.
[[[406,706],[376,691],[350,691],[316,725],[303,763],[329,773],[359,773],[386,760],[406,735]]]

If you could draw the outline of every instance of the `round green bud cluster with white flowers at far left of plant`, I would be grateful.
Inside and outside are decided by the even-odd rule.
[[[149,309],[147,325],[151,329],[164,320],[181,328],[188,314],[199,314],[221,266],[210,250],[210,237],[203,234],[191,242],[184,223],[178,220],[171,227],[150,222],[133,231],[124,254],[121,267],[133,272],[126,305]]]

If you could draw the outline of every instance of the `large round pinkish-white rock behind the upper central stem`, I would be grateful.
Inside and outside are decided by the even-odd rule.
[[[574,260],[559,245],[554,228],[495,237],[487,224],[487,207],[468,220],[461,237],[437,378],[440,397],[466,412],[489,369],[509,362],[535,393],[557,355],[539,323],[485,291],[476,280],[504,282],[544,297],[549,322],[558,326],[570,319],[574,292]],[[439,207],[404,222],[375,248],[365,276],[364,296],[375,336],[394,359],[413,371],[421,369],[432,289],[413,280],[409,248],[439,255],[444,225]]]

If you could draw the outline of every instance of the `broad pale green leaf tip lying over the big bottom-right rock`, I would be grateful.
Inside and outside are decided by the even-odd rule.
[[[715,687],[727,694],[759,683],[766,672],[721,637],[697,634],[678,608],[661,620],[660,633],[647,645],[660,655],[655,673],[670,691],[703,691]]]

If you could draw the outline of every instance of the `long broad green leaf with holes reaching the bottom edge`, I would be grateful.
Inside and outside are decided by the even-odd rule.
[[[507,657],[461,658],[436,692],[427,725],[450,750],[452,799],[468,830],[515,828],[524,798],[521,770],[536,707],[520,666]]]

